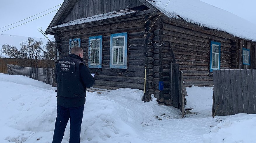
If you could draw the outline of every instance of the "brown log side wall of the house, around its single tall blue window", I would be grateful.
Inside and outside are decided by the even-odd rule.
[[[170,47],[168,41],[171,41],[186,87],[213,85],[213,77],[209,76],[210,41],[221,43],[221,69],[231,69],[230,39],[231,35],[226,33],[163,17],[163,43]]]

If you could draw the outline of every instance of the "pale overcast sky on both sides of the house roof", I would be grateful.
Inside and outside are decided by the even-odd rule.
[[[6,35],[20,35],[26,37],[44,37],[39,31],[38,28],[42,28],[43,31],[49,26],[50,22],[52,21],[54,15],[57,12],[57,9],[60,6],[53,8],[61,3],[64,0],[0,0],[0,34]],[[201,0],[203,2],[209,3],[213,6],[218,8],[227,10],[235,15],[238,15],[252,23],[256,24],[256,8],[255,0]],[[53,8],[46,12],[44,10]],[[52,12],[56,10],[55,12]],[[36,15],[40,12],[40,15]],[[48,15],[40,17],[48,12],[52,12]],[[13,24],[6,28],[2,28],[9,24],[18,22],[22,19],[30,17],[32,15],[36,15],[19,23]],[[36,20],[31,22],[25,23],[29,20],[34,18],[40,17]],[[21,26],[15,27],[13,29],[7,30],[19,24],[25,23]],[[4,31],[7,30],[7,31]],[[1,32],[4,31],[4,32]]]

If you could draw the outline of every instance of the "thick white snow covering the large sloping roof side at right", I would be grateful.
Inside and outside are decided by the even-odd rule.
[[[147,0],[170,18],[227,32],[233,36],[256,41],[256,25],[226,10],[199,0]]]

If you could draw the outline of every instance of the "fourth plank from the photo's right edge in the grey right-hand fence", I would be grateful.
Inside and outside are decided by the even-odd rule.
[[[235,70],[238,113],[244,113],[241,70]]]

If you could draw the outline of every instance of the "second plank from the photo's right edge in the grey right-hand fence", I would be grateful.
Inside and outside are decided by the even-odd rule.
[[[249,114],[254,114],[254,96],[253,96],[253,82],[252,82],[252,70],[246,70],[247,75],[247,92],[248,92],[248,104],[249,104]]]

